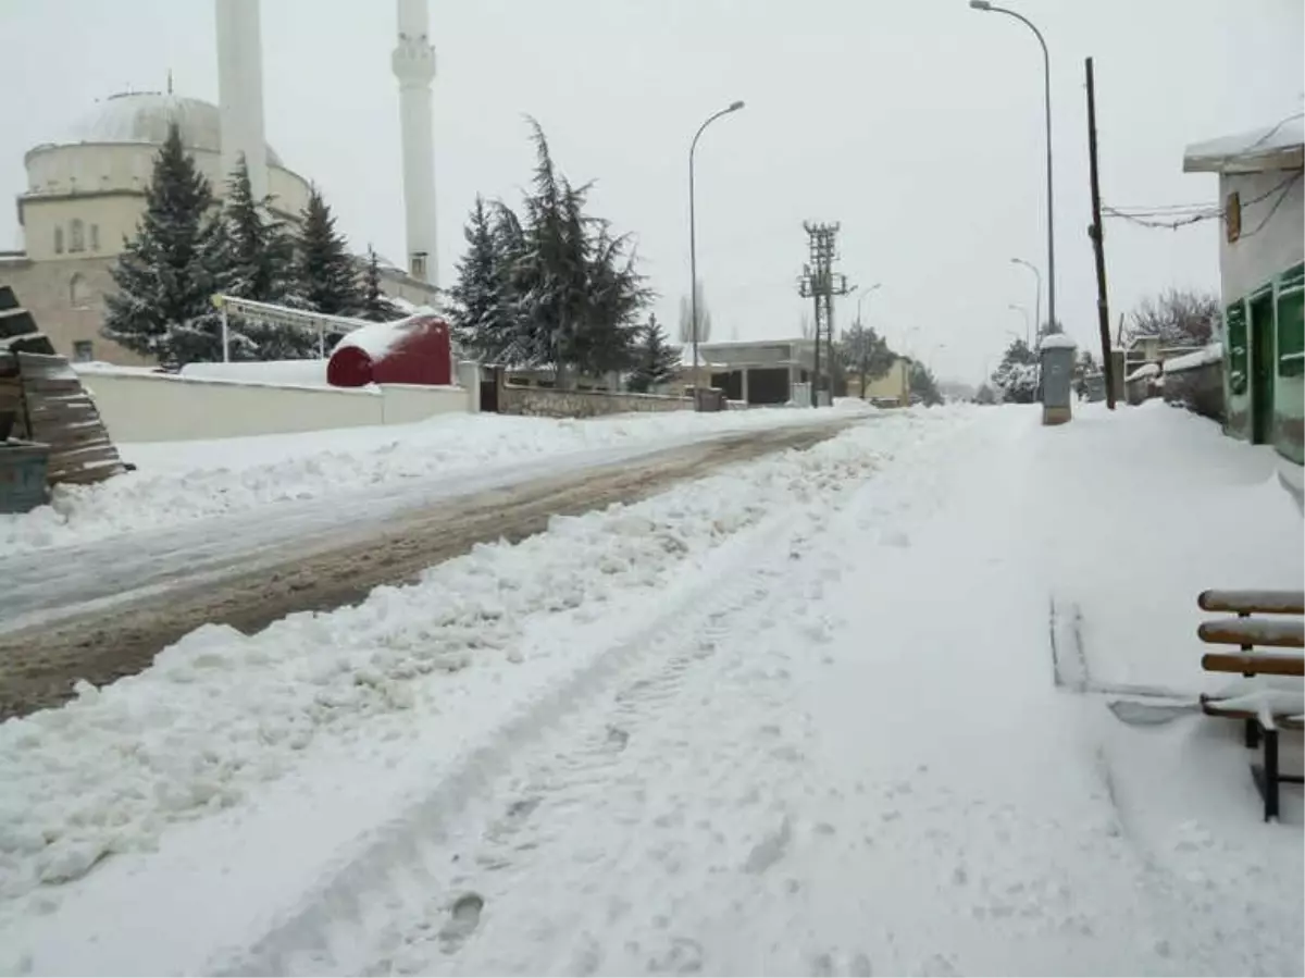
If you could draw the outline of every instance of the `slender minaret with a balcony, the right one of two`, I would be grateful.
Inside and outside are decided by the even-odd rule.
[[[435,47],[427,0],[398,0],[399,43],[394,48],[394,74],[399,80],[403,125],[403,204],[407,212],[408,273],[438,285],[435,248],[435,121],[431,84]]]

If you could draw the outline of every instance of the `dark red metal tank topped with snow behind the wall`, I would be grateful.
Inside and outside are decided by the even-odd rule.
[[[449,385],[453,383],[449,324],[440,316],[418,315],[355,329],[331,350],[326,383]]]

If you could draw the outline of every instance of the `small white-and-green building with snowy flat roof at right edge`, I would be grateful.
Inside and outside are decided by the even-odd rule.
[[[1305,120],[1189,146],[1219,175],[1228,435],[1305,462]]]

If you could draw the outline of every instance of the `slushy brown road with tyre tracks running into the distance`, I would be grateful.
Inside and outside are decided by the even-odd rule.
[[[723,465],[809,448],[847,420],[731,434],[675,448],[586,453],[365,499],[206,521],[0,561],[0,719],[55,706],[74,683],[133,675],[206,623],[245,633],[363,599],[488,541],[652,495]]]

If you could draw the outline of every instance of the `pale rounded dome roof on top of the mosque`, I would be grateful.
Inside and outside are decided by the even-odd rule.
[[[222,114],[210,102],[158,91],[111,95],[78,119],[60,145],[76,142],[130,142],[162,146],[176,123],[189,150],[222,151]],[[284,167],[268,146],[268,165]]]

